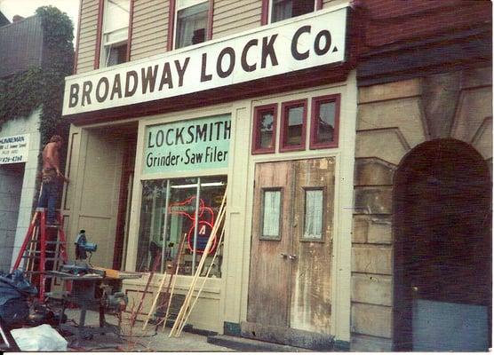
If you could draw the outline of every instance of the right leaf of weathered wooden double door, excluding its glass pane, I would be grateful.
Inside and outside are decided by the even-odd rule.
[[[293,162],[295,193],[291,254],[290,326],[331,332],[331,264],[334,231],[334,158]],[[323,226],[319,240],[304,239],[306,191],[323,191]]]

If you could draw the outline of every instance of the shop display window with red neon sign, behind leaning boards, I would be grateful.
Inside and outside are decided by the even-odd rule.
[[[218,217],[226,186],[227,177],[143,181],[137,271],[150,271],[154,265],[156,272],[170,271],[180,253],[179,274],[193,275]],[[221,276],[221,229],[203,267],[205,272],[213,263],[210,277]],[[184,243],[179,250],[181,239]]]

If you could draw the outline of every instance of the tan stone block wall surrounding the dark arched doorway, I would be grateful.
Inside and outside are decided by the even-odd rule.
[[[393,179],[436,138],[473,146],[492,173],[490,68],[359,88],[352,244],[352,351],[393,350]],[[451,109],[452,107],[452,109]]]

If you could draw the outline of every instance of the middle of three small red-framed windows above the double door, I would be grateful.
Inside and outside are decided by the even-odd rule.
[[[307,99],[283,102],[280,152],[306,147]]]

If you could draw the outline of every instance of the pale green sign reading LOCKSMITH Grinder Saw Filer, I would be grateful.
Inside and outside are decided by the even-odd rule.
[[[143,173],[227,168],[229,114],[147,126]]]

